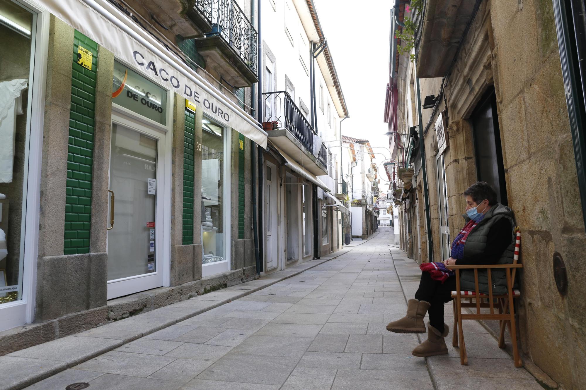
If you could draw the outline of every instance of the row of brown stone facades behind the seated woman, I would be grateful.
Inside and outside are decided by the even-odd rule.
[[[464,190],[476,180],[495,186],[522,232],[517,313],[525,366],[563,388],[584,388],[586,234],[560,65],[563,31],[554,23],[558,2],[448,3],[406,9],[397,0],[391,17],[393,31],[403,31],[406,18],[418,26],[411,53],[399,53],[406,42],[391,37],[387,85],[396,160],[387,174],[401,248],[415,258],[420,251],[420,262],[447,258],[464,225]],[[567,292],[556,287],[555,256],[565,262]]]

